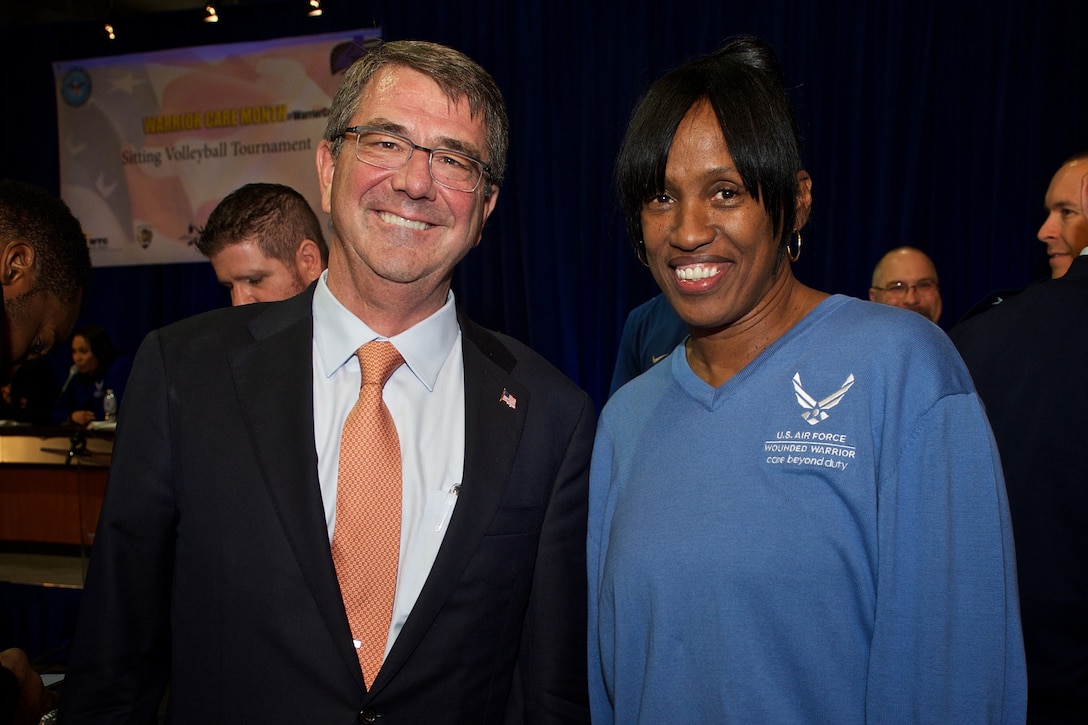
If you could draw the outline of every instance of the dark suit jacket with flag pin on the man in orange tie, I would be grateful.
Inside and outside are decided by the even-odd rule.
[[[312,287],[151,333],[128,382],[62,695],[67,723],[588,722],[595,416],[459,316],[457,508],[368,692],[313,445]],[[500,401],[504,390],[516,407]]]

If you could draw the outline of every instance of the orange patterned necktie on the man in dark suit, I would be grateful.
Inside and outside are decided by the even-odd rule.
[[[362,383],[341,438],[332,552],[369,690],[385,654],[400,554],[400,440],[382,389],[404,358],[378,340],[356,355]]]

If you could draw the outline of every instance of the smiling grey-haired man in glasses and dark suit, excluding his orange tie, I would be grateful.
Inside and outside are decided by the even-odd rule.
[[[168,681],[175,723],[588,722],[592,404],[449,290],[495,207],[506,123],[494,82],[456,51],[364,56],[318,150],[326,273],[145,341],[65,722],[153,722]],[[376,676],[331,555],[354,353],[375,339],[405,359],[383,392],[404,501]]]

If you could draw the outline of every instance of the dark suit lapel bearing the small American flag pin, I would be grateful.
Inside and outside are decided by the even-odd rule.
[[[461,579],[506,492],[529,407],[529,390],[511,372],[516,358],[458,309],[465,359],[465,475],[457,507],[434,565],[373,690],[411,655],[446,598]],[[509,397],[503,400],[504,393]],[[511,406],[512,404],[512,406]]]

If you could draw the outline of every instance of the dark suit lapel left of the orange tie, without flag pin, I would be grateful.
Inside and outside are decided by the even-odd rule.
[[[361,688],[313,445],[312,290],[255,318],[252,344],[232,352],[230,362],[261,479],[336,649]]]

